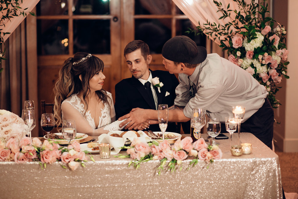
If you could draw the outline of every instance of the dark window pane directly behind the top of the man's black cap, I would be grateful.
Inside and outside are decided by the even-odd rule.
[[[190,37],[198,46],[206,47],[206,35],[197,35],[195,33],[185,33],[190,29],[195,30],[195,24],[189,19],[180,19],[176,21],[176,35],[185,35]]]

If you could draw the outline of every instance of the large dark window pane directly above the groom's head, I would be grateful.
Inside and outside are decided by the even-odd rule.
[[[150,53],[162,53],[164,43],[171,38],[171,19],[136,19],[135,39],[148,44]]]

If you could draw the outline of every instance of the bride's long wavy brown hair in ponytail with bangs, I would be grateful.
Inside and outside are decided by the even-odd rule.
[[[103,70],[104,64],[100,58],[94,55],[87,57],[87,55],[88,53],[75,53],[74,57],[70,57],[64,61],[59,71],[59,79],[56,81],[53,89],[55,94],[54,116],[57,127],[62,124],[61,104],[69,96],[81,91],[85,102],[85,110],[88,109],[87,95],[90,93],[89,81],[97,72]],[[81,61],[82,59],[83,61]],[[74,62],[77,63],[73,64]],[[82,80],[80,80],[80,75]],[[110,105],[108,98],[109,100],[111,99],[105,90],[101,89],[95,91],[95,93],[99,101],[101,100],[103,103]]]

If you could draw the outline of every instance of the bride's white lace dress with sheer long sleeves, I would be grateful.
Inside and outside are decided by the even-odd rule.
[[[101,111],[98,126],[95,125],[95,121],[94,118],[91,117],[90,110],[86,112],[84,109],[85,106],[81,103],[81,99],[77,96],[77,94],[69,96],[62,102],[62,119],[75,120],[77,132],[87,133],[89,135],[101,134],[100,132],[103,132],[103,130],[107,130],[106,132],[119,130],[119,124],[122,121],[114,122],[116,114],[112,94],[107,92],[107,95],[110,97],[108,98],[109,104],[104,103],[103,109],[98,110]],[[113,123],[111,123],[112,121]]]

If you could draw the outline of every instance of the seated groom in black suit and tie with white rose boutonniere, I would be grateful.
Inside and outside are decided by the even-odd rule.
[[[116,118],[137,107],[157,110],[158,104],[167,104],[168,107],[174,105],[175,89],[179,82],[175,75],[167,71],[149,69],[152,56],[144,41],[129,42],[124,49],[124,57],[132,77],[123,79],[115,86]],[[161,87],[154,86],[159,82],[153,78],[159,78]],[[147,130],[161,131],[158,124],[150,124]],[[176,132],[176,124],[169,122],[166,131]]]

